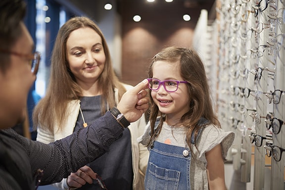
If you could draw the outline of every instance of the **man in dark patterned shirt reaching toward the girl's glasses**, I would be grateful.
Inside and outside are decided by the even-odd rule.
[[[22,21],[25,12],[24,0],[0,1],[0,190],[35,190],[60,182],[108,151],[148,108],[145,79],[127,91],[117,107],[62,140],[44,144],[18,135],[11,128],[23,122],[41,58]]]

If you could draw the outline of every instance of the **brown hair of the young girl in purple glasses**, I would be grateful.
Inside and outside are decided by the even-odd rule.
[[[187,88],[190,97],[190,109],[182,116],[179,123],[176,123],[175,126],[184,126],[188,128],[187,143],[191,148],[191,134],[194,135],[194,141],[196,141],[197,133],[199,129],[203,127],[199,124],[199,120],[201,118],[205,118],[208,121],[203,125],[214,124],[217,127],[221,127],[220,122],[214,114],[215,112],[211,101],[210,89],[202,60],[198,53],[191,48],[166,47],[152,58],[148,70],[148,78],[153,77],[153,66],[156,61],[166,61],[168,63],[175,64],[176,67],[180,68],[179,71],[183,80],[189,82],[187,84]],[[158,116],[163,115],[150,95],[149,120],[151,126],[151,138],[148,146],[152,144],[161,132],[165,117],[160,117],[160,123],[154,132],[154,125]]]

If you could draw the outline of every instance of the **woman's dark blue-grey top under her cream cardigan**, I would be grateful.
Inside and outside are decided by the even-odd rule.
[[[101,96],[83,97],[81,110],[87,124],[93,123],[101,116]],[[83,127],[83,118],[79,112],[75,131]],[[123,136],[116,140],[110,150],[92,161],[88,166],[103,180],[108,190],[132,190],[133,166],[131,134],[125,129]],[[101,190],[94,180],[93,184],[86,184],[79,190]]]

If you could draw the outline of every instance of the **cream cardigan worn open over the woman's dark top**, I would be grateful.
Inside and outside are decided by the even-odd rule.
[[[130,85],[124,85],[128,90],[132,88]],[[115,98],[118,102],[118,90],[115,89]],[[62,139],[66,136],[69,136],[73,133],[76,120],[79,114],[80,108],[80,100],[72,100],[68,103],[67,111],[69,112],[68,117],[66,118],[66,122],[64,126],[61,126],[62,129],[58,130],[58,125],[55,125],[53,128],[53,132],[50,133],[47,129],[44,129],[42,126],[38,126],[37,132],[37,141],[49,143],[54,142],[56,140]],[[141,119],[138,121],[131,123],[128,127],[131,133],[131,144],[132,144],[132,158],[133,158],[133,189],[134,190],[144,190],[144,175],[147,166],[149,152],[145,146],[141,143],[137,142],[137,138],[142,136],[144,127],[145,127],[145,118],[142,115]],[[57,187],[60,190],[67,190],[67,179],[63,179],[61,182],[53,184],[53,186]]]

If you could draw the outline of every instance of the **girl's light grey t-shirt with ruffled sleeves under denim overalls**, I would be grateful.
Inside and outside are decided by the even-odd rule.
[[[156,141],[175,146],[186,147],[185,127],[171,127],[166,122],[163,123],[162,130]],[[138,141],[146,145],[150,139],[150,124],[145,127],[144,134]],[[191,159],[190,164],[190,186],[193,190],[208,190],[207,160],[205,153],[218,144],[222,147],[222,157],[226,161],[227,153],[235,139],[233,132],[225,132],[223,129],[214,125],[206,126],[200,133],[196,146],[192,145],[196,159]]]

